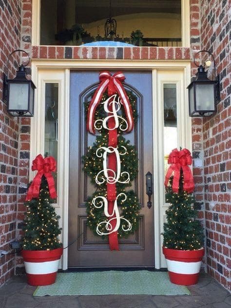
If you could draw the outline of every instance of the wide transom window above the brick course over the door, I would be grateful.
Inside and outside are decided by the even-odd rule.
[[[182,46],[181,0],[40,0],[40,45]]]

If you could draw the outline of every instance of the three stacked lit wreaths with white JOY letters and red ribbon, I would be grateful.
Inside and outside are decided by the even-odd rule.
[[[111,250],[119,250],[119,239],[134,233],[139,223],[139,201],[129,189],[138,172],[137,153],[122,135],[133,129],[137,102],[131,92],[125,92],[122,72],[114,76],[101,72],[99,78],[101,83],[85,106],[87,130],[96,134],[82,158],[83,169],[96,188],[86,201],[87,226],[107,238]]]

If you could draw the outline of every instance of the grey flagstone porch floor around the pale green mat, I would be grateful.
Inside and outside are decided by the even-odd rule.
[[[207,274],[191,295],[33,296],[36,287],[15,276],[0,288],[0,308],[231,308],[231,293]]]

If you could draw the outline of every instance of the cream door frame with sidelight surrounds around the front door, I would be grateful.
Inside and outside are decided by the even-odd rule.
[[[63,246],[68,245],[68,184],[69,183],[69,104],[70,104],[70,70],[148,70],[153,76],[153,161],[154,161],[154,251],[155,268],[166,267],[161,251],[161,235],[165,211],[168,204],[164,201],[164,157],[163,153],[163,83],[177,84],[177,140],[178,145],[192,150],[192,125],[189,117],[187,85],[191,81],[191,60],[44,60],[32,59],[32,80],[37,91],[35,94],[35,112],[31,119],[30,141],[30,173],[33,179],[35,172],[31,171],[34,157],[44,152],[44,95],[46,82],[58,82],[58,203],[56,212],[61,216],[59,225],[62,228],[60,239]],[[96,80],[97,81],[97,80]],[[61,116],[60,116],[61,115]],[[180,127],[184,129],[180,130]],[[62,128],[62,129],[61,129]],[[161,172],[162,170],[162,172]],[[157,206],[159,205],[159,206]],[[67,250],[63,251],[60,268],[67,269]]]

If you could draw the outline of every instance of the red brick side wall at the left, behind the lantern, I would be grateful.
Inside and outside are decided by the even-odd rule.
[[[0,0],[0,250],[11,250],[16,238],[19,123],[9,116],[2,102],[2,77],[9,54],[20,47],[21,1]],[[19,54],[9,64],[8,77],[15,75]],[[0,285],[14,274],[14,254],[0,256]]]

